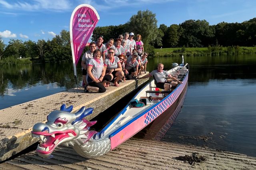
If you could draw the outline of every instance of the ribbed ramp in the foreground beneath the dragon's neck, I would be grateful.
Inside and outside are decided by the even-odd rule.
[[[188,162],[185,155],[197,152],[205,160]],[[152,169],[256,169],[256,158],[244,154],[224,152],[169,142],[148,141],[131,138],[108,154],[95,159],[79,156],[72,148],[58,146],[51,159],[41,158],[35,151],[0,164],[8,170],[152,170]]]

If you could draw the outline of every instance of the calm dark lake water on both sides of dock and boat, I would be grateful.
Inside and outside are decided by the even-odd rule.
[[[156,69],[157,63],[170,69],[180,61],[180,57],[149,59],[147,70]],[[256,156],[256,55],[184,57],[184,61],[190,65],[186,99],[162,140]],[[72,63],[4,65],[0,81],[0,109],[75,87]]]

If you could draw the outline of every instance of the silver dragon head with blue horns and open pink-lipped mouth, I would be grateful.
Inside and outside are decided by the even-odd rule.
[[[79,142],[86,142],[97,133],[89,131],[90,126],[97,121],[87,121],[84,117],[92,114],[93,108],[82,107],[76,113],[70,113],[73,106],[60,107],[60,111],[52,111],[47,116],[46,123],[36,123],[32,128],[32,136],[39,137],[42,142],[37,147],[39,156],[49,158],[59,144],[74,146]]]

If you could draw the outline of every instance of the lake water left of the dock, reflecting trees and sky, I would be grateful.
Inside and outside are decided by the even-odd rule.
[[[78,77],[78,82],[80,81],[82,77]],[[0,67],[0,109],[74,86],[71,63],[3,65]]]

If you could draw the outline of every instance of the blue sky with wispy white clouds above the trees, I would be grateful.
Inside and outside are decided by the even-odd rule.
[[[156,14],[158,26],[190,19],[240,23],[256,17],[256,0],[0,0],[0,37],[6,44],[10,39],[51,40],[69,31],[70,16],[80,4],[97,10],[97,26],[124,24],[138,10]]]

